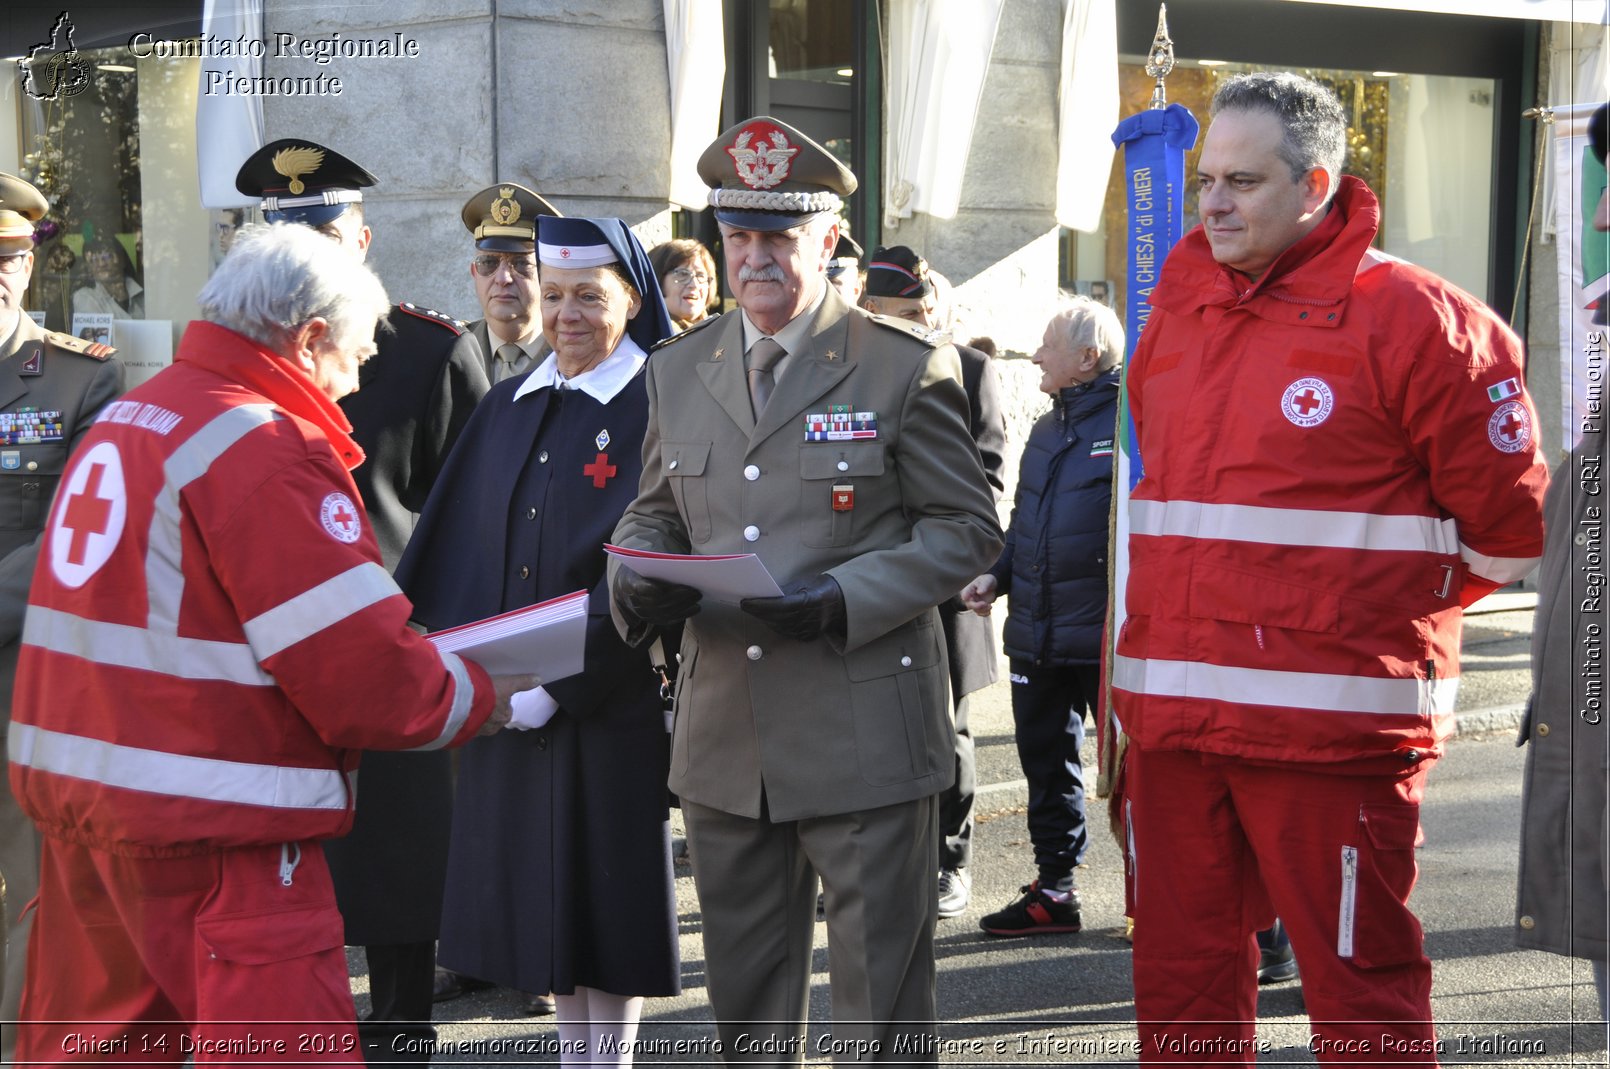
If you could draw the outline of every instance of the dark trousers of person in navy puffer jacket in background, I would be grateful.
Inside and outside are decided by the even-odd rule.
[[[1101,665],[1011,662],[1011,715],[1029,781],[1029,840],[1042,887],[1069,879],[1090,845],[1079,747],[1100,686]]]

